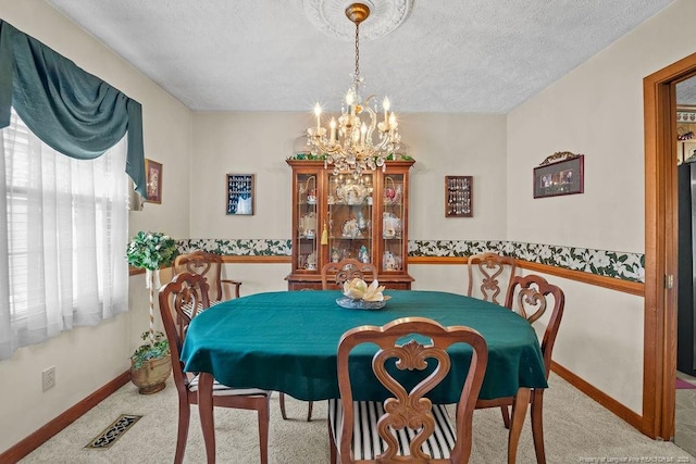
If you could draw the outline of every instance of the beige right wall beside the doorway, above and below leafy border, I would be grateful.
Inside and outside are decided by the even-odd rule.
[[[678,0],[508,115],[508,239],[644,251],[643,78],[696,51],[696,2]],[[534,200],[532,170],[585,154],[585,193]],[[642,412],[643,299],[560,279],[556,360]],[[626,385],[631,388],[626,388]]]

